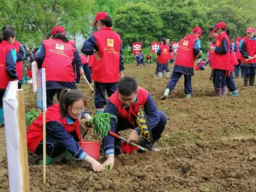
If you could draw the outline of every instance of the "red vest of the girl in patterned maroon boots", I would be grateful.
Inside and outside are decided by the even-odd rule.
[[[222,47],[222,40],[225,38],[228,44],[228,53],[226,54],[218,54],[215,51],[213,52],[212,63],[210,67],[218,70],[230,70],[230,41],[227,36],[227,33],[222,33],[217,36],[215,41],[215,46]]]

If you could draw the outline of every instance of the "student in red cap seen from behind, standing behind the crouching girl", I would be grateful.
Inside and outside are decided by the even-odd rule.
[[[53,97],[57,93],[59,99],[61,90],[65,88],[76,89],[75,63],[80,60],[75,48],[65,37],[62,26],[53,28],[53,38],[44,40],[36,53],[38,69],[46,68],[46,99],[47,107],[53,105]],[[81,75],[84,74],[82,65],[79,66]]]

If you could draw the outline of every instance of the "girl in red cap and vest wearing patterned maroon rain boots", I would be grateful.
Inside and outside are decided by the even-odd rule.
[[[230,70],[230,41],[226,30],[225,23],[217,23],[213,32],[217,32],[218,36],[215,43],[210,45],[210,67],[213,68],[213,85],[216,96],[228,93],[225,73]]]

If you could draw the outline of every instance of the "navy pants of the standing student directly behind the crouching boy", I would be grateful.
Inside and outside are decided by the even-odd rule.
[[[117,91],[118,82],[97,82],[95,81],[95,107],[96,109],[102,109],[107,104],[105,99],[105,92],[110,97]]]

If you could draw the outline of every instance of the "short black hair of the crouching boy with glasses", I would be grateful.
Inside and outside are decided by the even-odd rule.
[[[118,82],[118,92],[121,95],[132,95],[133,92],[137,92],[137,88],[137,81],[134,78],[124,77]]]

